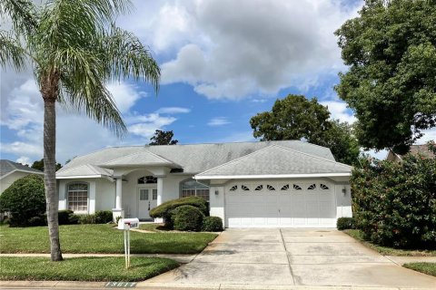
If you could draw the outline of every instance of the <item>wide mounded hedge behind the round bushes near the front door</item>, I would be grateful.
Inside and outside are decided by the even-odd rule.
[[[150,217],[152,218],[163,218],[165,222],[165,227],[173,228],[172,214],[174,208],[181,206],[192,206],[198,208],[204,216],[209,216],[209,208],[207,206],[207,201],[204,198],[198,197],[187,197],[187,198],[177,198],[163,202],[159,207],[150,210]]]

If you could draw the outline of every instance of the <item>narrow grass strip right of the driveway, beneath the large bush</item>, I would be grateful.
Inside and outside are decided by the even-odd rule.
[[[366,247],[372,248],[373,250],[379,252],[383,256],[436,256],[436,250],[401,249],[372,244],[372,242],[363,238],[363,233],[359,229],[345,229],[343,232],[350,237],[357,239]]]

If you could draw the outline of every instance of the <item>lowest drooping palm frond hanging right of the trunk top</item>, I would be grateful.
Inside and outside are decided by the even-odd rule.
[[[62,49],[54,55],[54,63],[63,63],[58,101],[68,108],[84,111],[91,119],[123,137],[126,127],[113,96],[105,87],[104,66],[93,53],[81,49]]]

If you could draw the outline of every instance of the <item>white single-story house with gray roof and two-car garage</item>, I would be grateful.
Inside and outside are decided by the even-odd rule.
[[[150,219],[151,208],[205,198],[225,227],[335,227],[352,217],[352,168],[300,140],[107,148],[56,173],[59,209]]]

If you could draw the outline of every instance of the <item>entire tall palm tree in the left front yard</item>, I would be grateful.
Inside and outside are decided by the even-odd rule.
[[[55,183],[55,103],[102,123],[122,137],[120,111],[106,84],[133,78],[159,88],[160,70],[134,36],[114,24],[131,8],[126,0],[1,0],[0,16],[12,28],[0,30],[0,64],[31,65],[44,100],[44,163],[47,222],[52,261],[61,261]]]

